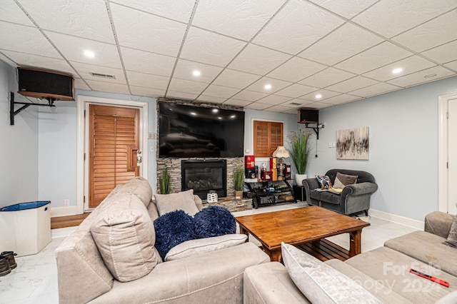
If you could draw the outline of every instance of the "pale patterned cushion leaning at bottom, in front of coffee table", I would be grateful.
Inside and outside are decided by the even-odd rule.
[[[311,303],[381,303],[367,290],[293,245],[281,243],[283,262]]]

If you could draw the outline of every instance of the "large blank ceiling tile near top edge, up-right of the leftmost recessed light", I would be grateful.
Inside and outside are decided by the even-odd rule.
[[[114,28],[121,46],[177,56],[186,24],[111,4]]]

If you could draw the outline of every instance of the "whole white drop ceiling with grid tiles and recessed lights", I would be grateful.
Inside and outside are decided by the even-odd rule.
[[[283,113],[457,74],[456,0],[1,0],[0,29],[76,88]]]

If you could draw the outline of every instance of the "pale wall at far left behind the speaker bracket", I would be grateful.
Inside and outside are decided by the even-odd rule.
[[[17,91],[15,69],[0,60],[0,207],[39,199],[37,107],[29,106],[14,116],[10,126],[10,92],[15,101],[29,102]]]

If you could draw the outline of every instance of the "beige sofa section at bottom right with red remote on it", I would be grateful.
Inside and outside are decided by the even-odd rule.
[[[425,218],[424,231],[393,238],[383,247],[345,262],[333,259],[313,264],[308,260],[303,265],[317,268],[321,277],[325,277],[326,271],[330,273],[328,266],[338,270],[339,274],[356,282],[357,288],[363,288],[378,299],[378,302],[358,301],[354,297],[347,303],[457,303],[457,248],[443,245],[454,218],[447,213],[433,212]],[[409,272],[411,268],[445,280],[449,287],[413,275]],[[247,268],[244,303],[316,303],[312,297],[317,289],[328,293],[335,288],[331,285],[333,278],[323,278],[326,283],[320,286],[308,282],[304,286],[298,283],[297,287],[288,270],[291,269],[277,262]],[[334,277],[334,273],[331,276]],[[347,288],[341,290],[343,292],[348,292]]]

